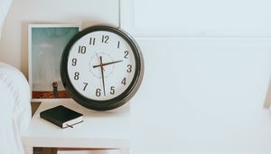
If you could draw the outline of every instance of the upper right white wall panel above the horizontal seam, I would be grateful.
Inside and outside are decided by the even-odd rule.
[[[267,0],[123,0],[122,26],[136,36],[271,36]]]

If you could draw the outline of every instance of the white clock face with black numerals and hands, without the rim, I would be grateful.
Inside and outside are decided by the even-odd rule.
[[[70,48],[68,74],[84,97],[107,101],[126,91],[135,76],[135,55],[122,37],[108,31],[82,36]]]

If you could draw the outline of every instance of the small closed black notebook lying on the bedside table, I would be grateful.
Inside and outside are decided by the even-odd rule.
[[[40,116],[42,119],[48,120],[62,129],[67,127],[72,128],[73,125],[83,121],[83,114],[72,111],[62,105],[42,111]]]

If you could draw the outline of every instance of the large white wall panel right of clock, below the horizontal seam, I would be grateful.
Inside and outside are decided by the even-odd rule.
[[[133,153],[268,154],[271,38],[138,38]]]

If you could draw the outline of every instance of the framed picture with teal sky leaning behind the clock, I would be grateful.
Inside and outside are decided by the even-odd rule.
[[[61,82],[61,54],[80,24],[29,24],[29,84],[32,101],[70,98]]]

